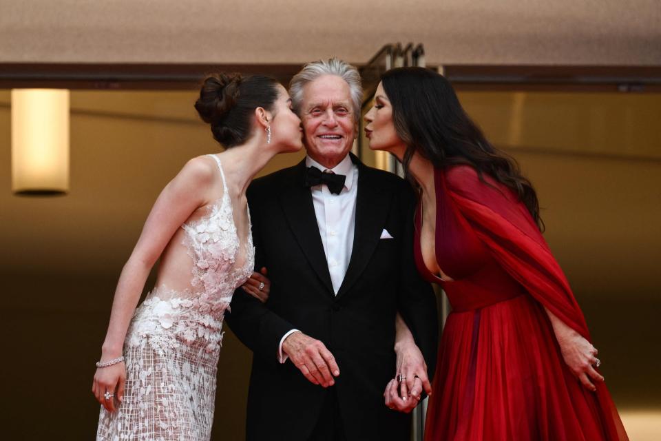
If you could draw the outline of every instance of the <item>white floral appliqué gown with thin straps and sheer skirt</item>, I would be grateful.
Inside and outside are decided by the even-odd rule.
[[[136,309],[124,343],[125,396],[114,413],[101,407],[97,440],[211,436],[224,311],[252,274],[255,249],[251,234],[243,244],[238,238],[220,160],[209,156],[218,163],[224,191],[207,216],[182,225],[193,289],[157,287]]]

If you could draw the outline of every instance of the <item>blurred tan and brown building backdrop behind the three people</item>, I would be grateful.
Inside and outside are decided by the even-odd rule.
[[[631,440],[661,439],[658,0],[0,0],[3,439],[94,438],[94,362],[119,272],[162,187],[220,148],[193,109],[204,73],[286,85],[334,56],[360,68],[366,106],[395,65],[452,81],[538,190]],[[65,194],[12,191],[10,91],[23,88],[70,90]],[[392,167],[363,141],[363,161]],[[228,329],[214,440],[244,437],[250,362]]]

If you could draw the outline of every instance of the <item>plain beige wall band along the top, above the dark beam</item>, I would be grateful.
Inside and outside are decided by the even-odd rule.
[[[0,62],[658,65],[658,0],[0,1]]]

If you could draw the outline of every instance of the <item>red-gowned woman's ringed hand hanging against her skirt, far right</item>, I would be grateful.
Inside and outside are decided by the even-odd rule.
[[[597,349],[585,340],[574,329],[564,331],[558,338],[560,351],[571,373],[583,384],[585,389],[596,391],[597,388],[590,380],[602,382],[604,377],[594,367],[599,364]]]

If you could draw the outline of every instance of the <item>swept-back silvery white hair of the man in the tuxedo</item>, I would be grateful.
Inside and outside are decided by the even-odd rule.
[[[294,111],[300,116],[305,85],[322,75],[335,75],[346,81],[349,85],[354,119],[358,122],[363,99],[363,86],[360,74],[353,65],[337,58],[307,63],[300,72],[293,76],[289,82],[289,96],[291,96],[291,104]]]

